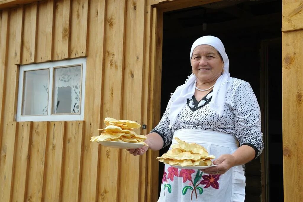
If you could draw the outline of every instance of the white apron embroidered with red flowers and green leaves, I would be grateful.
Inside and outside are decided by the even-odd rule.
[[[172,144],[177,143],[175,137],[204,146],[209,155],[216,158],[222,154],[231,154],[238,148],[235,136],[210,130],[177,130]],[[245,176],[242,165],[232,167],[222,175],[165,165],[158,202],[244,202],[244,199]]]

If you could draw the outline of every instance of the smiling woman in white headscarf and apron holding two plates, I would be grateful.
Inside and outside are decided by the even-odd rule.
[[[260,108],[248,82],[230,77],[220,39],[203,36],[190,52],[192,74],[173,93],[159,124],[147,135],[151,150],[185,142],[204,146],[217,157],[205,170],[165,165],[158,201],[242,202],[243,164],[263,150]],[[142,155],[144,146],[129,150]]]

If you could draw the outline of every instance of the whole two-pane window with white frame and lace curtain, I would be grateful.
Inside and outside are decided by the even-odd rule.
[[[86,59],[20,66],[17,121],[84,120]]]

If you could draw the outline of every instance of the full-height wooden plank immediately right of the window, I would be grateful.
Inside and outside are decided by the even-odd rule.
[[[88,27],[88,50],[85,83],[84,148],[81,185],[81,201],[95,202],[99,190],[99,153],[101,147],[90,141],[98,136],[102,120],[102,93],[104,90],[104,32],[106,1],[90,1]],[[100,192],[101,194],[102,192]]]

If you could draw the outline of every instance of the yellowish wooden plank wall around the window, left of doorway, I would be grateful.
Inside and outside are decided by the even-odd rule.
[[[151,5],[30,2],[0,2],[15,6],[0,10],[0,201],[156,201],[157,152],[134,157],[90,142],[105,117],[151,130],[152,38],[161,49]],[[19,65],[78,57],[87,58],[84,121],[15,122]]]

